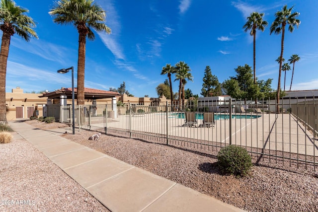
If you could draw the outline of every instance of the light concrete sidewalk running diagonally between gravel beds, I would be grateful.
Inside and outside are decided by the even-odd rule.
[[[9,122],[85,190],[113,212],[242,211],[210,196],[60,137],[65,129],[39,130]]]

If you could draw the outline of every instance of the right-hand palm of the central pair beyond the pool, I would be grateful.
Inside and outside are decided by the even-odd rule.
[[[189,72],[191,71],[189,66],[180,61],[175,65],[176,73],[175,73],[175,80],[179,80],[179,105],[184,105],[184,86],[187,82],[187,79],[193,81],[193,76]],[[175,81],[174,80],[174,81]],[[182,98],[182,103],[181,103]]]

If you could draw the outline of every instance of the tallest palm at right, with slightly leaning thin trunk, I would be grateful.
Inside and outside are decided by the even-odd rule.
[[[281,41],[281,52],[280,52],[280,59],[283,58],[283,53],[284,53],[284,37],[285,37],[285,27],[288,24],[288,30],[290,32],[294,31],[294,26],[296,25],[297,28],[299,27],[299,24],[301,21],[297,19],[296,17],[299,16],[299,12],[294,12],[292,13],[293,10],[292,6],[291,8],[287,8],[287,5],[283,6],[281,11],[277,11],[275,13],[275,20],[273,21],[272,25],[270,26],[270,34],[273,32],[275,34],[280,34],[282,32],[282,41]],[[282,63],[283,61],[280,60],[279,62],[279,74],[278,74],[278,85],[277,85],[277,108],[276,111],[279,113],[279,94],[280,94],[280,78],[282,74]]]

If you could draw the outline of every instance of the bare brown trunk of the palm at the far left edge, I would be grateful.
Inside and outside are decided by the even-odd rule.
[[[9,55],[11,35],[3,31],[1,51],[0,51],[0,122],[7,123],[6,121],[6,104],[5,104],[5,77],[6,77],[6,64]]]

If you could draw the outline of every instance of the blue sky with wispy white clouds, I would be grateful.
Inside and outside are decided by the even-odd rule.
[[[37,22],[39,39],[25,42],[11,37],[6,92],[20,86],[24,91],[54,91],[71,87],[75,68],[77,86],[78,32],[73,25],[57,25],[48,14],[53,0],[15,0],[29,9]],[[275,12],[283,5],[294,5],[302,23],[293,33],[286,31],[284,58],[298,54],[292,90],[318,89],[317,0],[95,0],[106,11],[110,35],[95,33],[86,41],[85,87],[109,90],[125,81],[133,95],[157,97],[156,87],[167,77],[160,75],[166,64],[179,61],[192,70],[188,82],[194,94],[202,88],[206,66],[220,82],[234,76],[238,66],[253,65],[253,39],[242,26],[253,11],[265,13],[269,25],[256,34],[256,76],[273,78],[277,89],[281,35],[270,35]],[[292,67],[292,66],[291,66]],[[289,89],[292,71],[287,72]],[[283,75],[282,75],[283,76]],[[174,77],[172,78],[172,80]],[[282,77],[282,87],[284,79]],[[178,91],[178,83],[173,83]]]

